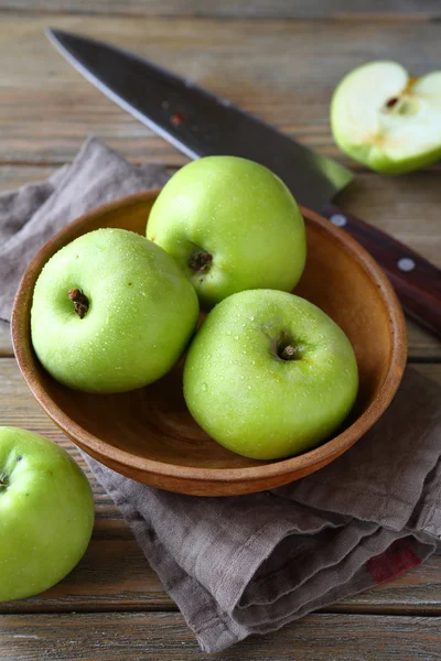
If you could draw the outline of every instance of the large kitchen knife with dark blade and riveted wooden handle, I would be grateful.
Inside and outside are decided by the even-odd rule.
[[[272,170],[299,204],[358,240],[386,271],[408,314],[441,334],[440,269],[332,202],[352,181],[349,170],[133,53],[62,30],[46,35],[98,89],[191,159],[236,155]]]

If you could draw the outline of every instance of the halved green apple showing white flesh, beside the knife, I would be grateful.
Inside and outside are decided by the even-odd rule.
[[[338,147],[388,174],[441,158],[441,72],[412,78],[396,62],[369,62],[347,74],[331,102]]]

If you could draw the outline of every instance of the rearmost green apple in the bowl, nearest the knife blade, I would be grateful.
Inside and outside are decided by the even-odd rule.
[[[189,163],[154,203],[147,237],[174,257],[204,308],[247,289],[291,291],[305,254],[303,218],[272,172],[246,159]]]

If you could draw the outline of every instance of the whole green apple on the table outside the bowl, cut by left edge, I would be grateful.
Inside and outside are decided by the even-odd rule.
[[[36,595],[83,557],[94,527],[90,485],[55,443],[0,427],[0,602]]]

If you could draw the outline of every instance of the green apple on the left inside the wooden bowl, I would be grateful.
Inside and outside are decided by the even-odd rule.
[[[197,317],[197,296],[164,250],[131,231],[98,229],[44,266],[33,295],[32,344],[62,383],[122,392],[169,371]]]

